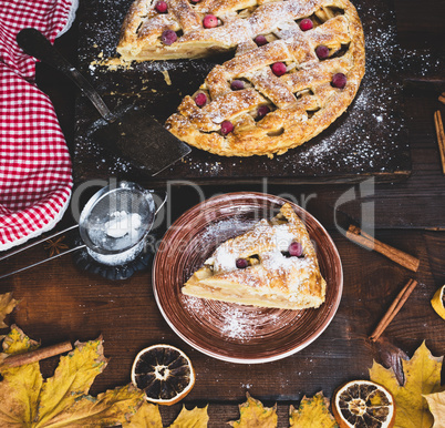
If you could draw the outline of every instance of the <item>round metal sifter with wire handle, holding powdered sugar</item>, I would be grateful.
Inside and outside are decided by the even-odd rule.
[[[9,253],[0,257],[0,262],[76,227],[82,240],[81,245],[4,274],[0,279],[85,247],[91,257],[101,264],[118,266],[128,263],[143,251],[156,214],[166,200],[167,194],[156,206],[153,191],[126,181],[103,187],[83,207],[79,224]]]

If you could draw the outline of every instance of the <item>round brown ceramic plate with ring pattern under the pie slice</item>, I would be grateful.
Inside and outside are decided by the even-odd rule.
[[[184,296],[183,284],[224,241],[260,218],[271,218],[288,202],[263,193],[228,193],[183,214],[165,234],[153,266],[157,305],[186,343],[232,363],[265,363],[287,357],[313,342],[339,307],[343,272],[328,232],[307,211],[291,204],[315,245],[327,298],[318,309],[284,310]]]

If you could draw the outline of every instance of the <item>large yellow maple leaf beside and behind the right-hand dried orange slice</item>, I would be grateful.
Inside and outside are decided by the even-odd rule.
[[[400,385],[392,368],[386,369],[373,363],[371,380],[386,387],[396,404],[395,425],[400,428],[431,428],[433,415],[428,410],[427,394],[441,389],[443,357],[434,357],[423,343],[410,360],[402,359],[404,385]]]

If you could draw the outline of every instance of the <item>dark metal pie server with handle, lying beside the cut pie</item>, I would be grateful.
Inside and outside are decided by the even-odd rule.
[[[87,135],[106,150],[151,175],[190,153],[187,144],[164,129],[144,109],[128,105],[111,112],[90,82],[39,30],[21,30],[17,34],[17,42],[28,54],[64,73],[90,99],[103,119],[93,123]]]

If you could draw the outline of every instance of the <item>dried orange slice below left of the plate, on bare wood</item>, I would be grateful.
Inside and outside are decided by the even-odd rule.
[[[153,345],[137,354],[132,367],[132,383],[145,391],[148,401],[173,405],[195,385],[190,359],[170,345]]]

